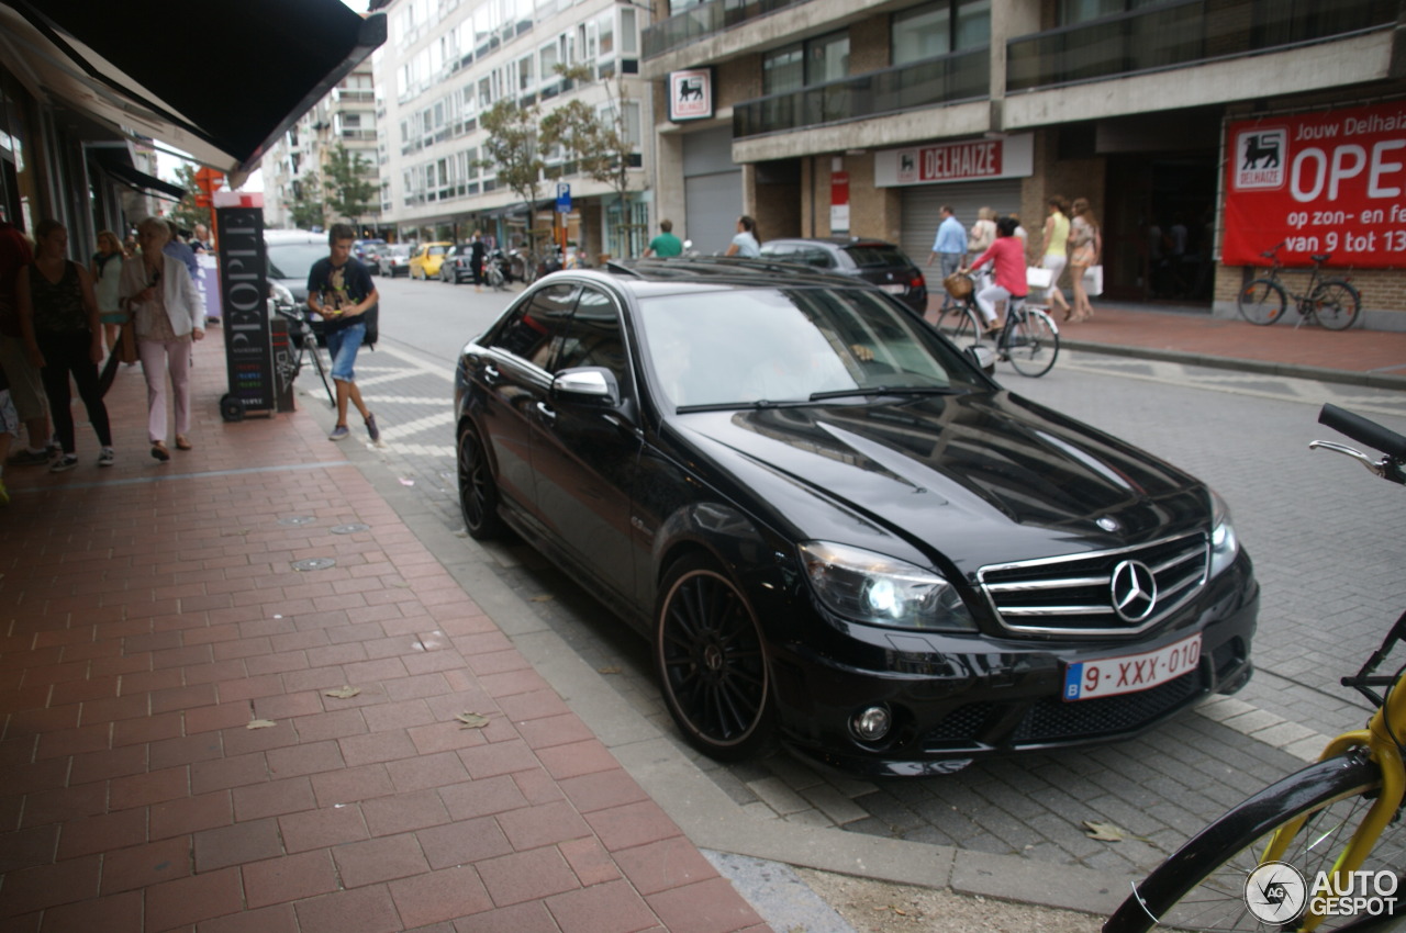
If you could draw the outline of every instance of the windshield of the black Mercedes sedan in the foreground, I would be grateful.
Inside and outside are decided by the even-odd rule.
[[[681,409],[986,388],[931,326],[869,289],[727,289],[640,311],[654,381]]]

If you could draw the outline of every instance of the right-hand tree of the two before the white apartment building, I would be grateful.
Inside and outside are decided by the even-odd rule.
[[[557,73],[569,81],[591,80],[588,66],[557,66]],[[561,146],[569,162],[576,163],[581,174],[610,185],[620,198],[620,236],[630,243],[630,169],[634,162],[634,145],[630,141],[630,125],[626,119],[624,79],[617,76],[606,81],[609,105],[598,111],[581,98],[557,107],[541,121],[541,145],[547,149]]]

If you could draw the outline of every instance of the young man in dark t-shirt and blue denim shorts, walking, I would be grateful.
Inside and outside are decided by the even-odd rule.
[[[354,239],[356,232],[346,223],[332,225],[332,233],[328,236],[332,256],[319,259],[308,271],[308,308],[325,322],[322,333],[328,339],[332,381],[337,386],[337,424],[328,437],[340,441],[350,434],[347,430],[347,402],[350,402],[361,413],[366,431],[375,444],[381,440],[381,429],[375,424],[375,415],[361,400],[353,367],[356,351],[366,337],[363,315],[375,308],[380,295],[366,266],[352,256]]]

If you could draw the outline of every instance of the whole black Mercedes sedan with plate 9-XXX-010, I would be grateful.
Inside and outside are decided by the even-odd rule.
[[[837,274],[550,275],[463,348],[465,527],[516,531],[648,637],[717,759],[775,731],[945,773],[1243,686],[1258,585],[1220,499],[976,353]]]

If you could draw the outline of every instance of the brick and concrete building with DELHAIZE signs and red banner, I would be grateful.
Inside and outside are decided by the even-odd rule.
[[[883,236],[921,263],[949,204],[1018,211],[1033,263],[1060,194],[1092,204],[1112,298],[1233,315],[1284,242],[1406,330],[1396,0],[657,6],[655,209],[704,252],[747,212],[763,240]]]

